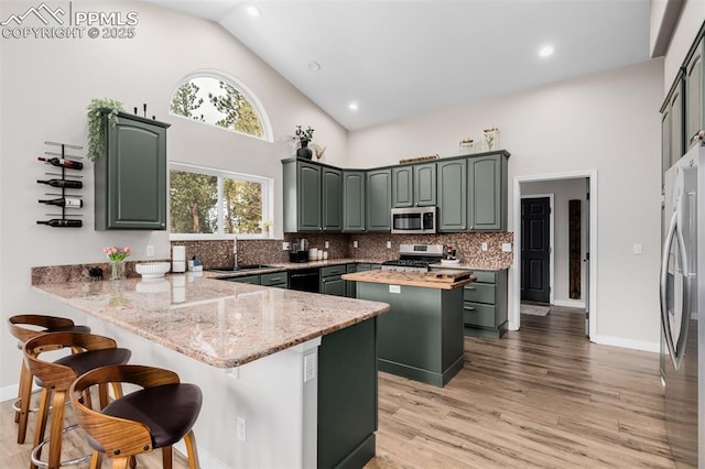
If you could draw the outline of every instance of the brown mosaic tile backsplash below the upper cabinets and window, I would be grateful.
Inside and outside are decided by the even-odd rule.
[[[324,249],[328,241],[328,259],[372,259],[386,261],[399,257],[399,244],[451,244],[457,250],[463,263],[491,261],[511,264],[512,252],[503,252],[502,243],[512,244],[512,232],[471,232],[442,234],[391,234],[391,233],[284,233],[284,239],[238,240],[238,252],[241,264],[267,264],[289,262],[289,251],[282,249],[282,242],[294,242],[297,239],[308,240],[310,248]],[[354,248],[354,241],[358,247]],[[391,241],[391,248],[387,248]],[[487,251],[481,250],[482,242]],[[172,241],[172,246],[185,246],[186,259],[194,255],[199,259],[204,269],[232,265],[232,240],[219,241]]]

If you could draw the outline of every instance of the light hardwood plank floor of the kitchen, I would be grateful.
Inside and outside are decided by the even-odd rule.
[[[466,337],[464,369],[443,389],[380,373],[366,468],[674,468],[658,355],[590,343],[583,327],[582,314],[553,307],[500,340]],[[0,417],[0,467],[26,468],[10,403]],[[72,454],[84,446],[74,438]],[[160,463],[155,454],[138,467]]]

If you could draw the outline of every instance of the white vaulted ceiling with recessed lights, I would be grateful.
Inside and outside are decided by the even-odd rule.
[[[349,130],[649,58],[650,0],[148,1],[220,23]]]

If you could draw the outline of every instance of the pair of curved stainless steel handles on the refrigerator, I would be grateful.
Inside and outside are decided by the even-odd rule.
[[[681,263],[685,269],[681,269],[681,276],[683,279],[683,307],[681,318],[681,334],[679,335],[677,347],[673,342],[673,334],[671,331],[671,321],[669,319],[669,259],[671,253],[671,244],[675,241],[676,249],[681,257]],[[666,234],[665,242],[663,244],[663,258],[661,260],[661,279],[660,279],[660,293],[661,293],[661,326],[663,327],[663,334],[665,336],[665,345],[669,349],[669,355],[673,361],[673,367],[680,370],[681,362],[683,361],[683,350],[685,340],[687,338],[687,329],[691,317],[691,279],[687,275],[687,254],[685,253],[685,243],[683,236],[679,230],[677,212],[674,212],[671,217],[671,225],[669,227],[669,233]]]

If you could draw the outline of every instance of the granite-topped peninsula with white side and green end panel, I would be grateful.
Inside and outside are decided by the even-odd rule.
[[[375,455],[377,316],[389,305],[191,273],[33,288],[85,313],[132,363],[202,388],[203,467],[361,467]]]

